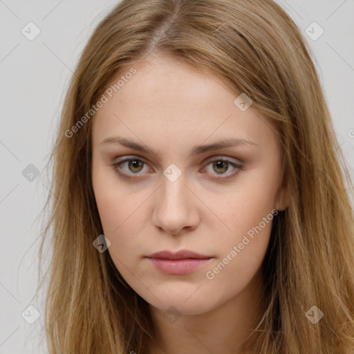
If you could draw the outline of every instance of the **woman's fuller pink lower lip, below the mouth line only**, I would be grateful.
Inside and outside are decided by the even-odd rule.
[[[155,265],[160,272],[165,274],[183,275],[192,273],[194,270],[198,269],[211,258],[208,259],[160,259],[160,258],[149,258],[150,261]]]

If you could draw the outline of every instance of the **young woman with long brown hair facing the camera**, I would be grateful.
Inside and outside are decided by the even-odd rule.
[[[353,186],[309,53],[270,0],[100,22],[51,156],[50,353],[353,353]]]

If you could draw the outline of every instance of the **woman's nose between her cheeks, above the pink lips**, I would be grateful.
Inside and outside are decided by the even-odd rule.
[[[190,183],[189,183],[190,185]],[[198,200],[192,187],[187,185],[185,174],[172,182],[165,176],[153,199],[152,222],[168,234],[178,235],[194,230],[200,222]]]

